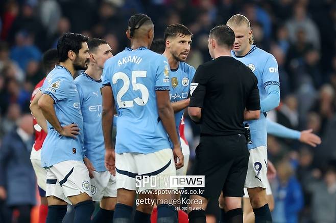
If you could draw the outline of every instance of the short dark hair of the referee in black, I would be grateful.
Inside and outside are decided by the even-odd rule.
[[[231,48],[234,43],[234,32],[227,25],[217,25],[210,30],[210,36],[214,38],[218,45]]]

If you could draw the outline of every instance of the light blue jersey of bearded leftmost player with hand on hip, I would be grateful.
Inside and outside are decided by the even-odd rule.
[[[49,167],[66,160],[83,161],[83,117],[73,76],[65,67],[56,66],[46,76],[41,90],[54,99],[55,113],[61,126],[75,123],[80,129],[76,138],[66,137],[47,122],[48,134],[41,151],[42,166]]]

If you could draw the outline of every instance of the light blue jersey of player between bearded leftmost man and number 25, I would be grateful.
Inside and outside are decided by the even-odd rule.
[[[102,81],[81,73],[75,83],[78,89],[84,121],[84,154],[97,172],[106,171],[104,166],[104,137],[102,130]]]

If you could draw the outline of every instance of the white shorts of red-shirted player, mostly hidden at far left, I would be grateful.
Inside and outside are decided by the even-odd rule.
[[[35,150],[34,147],[30,153],[30,161],[32,162],[34,172],[37,178],[37,185],[46,191],[46,170],[42,168],[41,150]]]

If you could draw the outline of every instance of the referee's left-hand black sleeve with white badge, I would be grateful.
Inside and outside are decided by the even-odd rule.
[[[205,73],[204,67],[200,65],[196,70],[193,81],[190,83],[189,107],[203,107],[207,81],[208,75]]]

